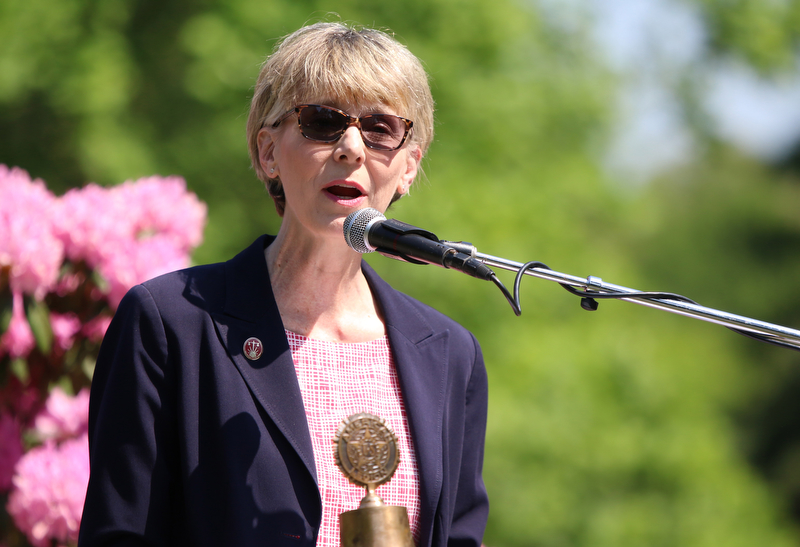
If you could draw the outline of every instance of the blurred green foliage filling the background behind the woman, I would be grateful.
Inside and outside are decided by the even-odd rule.
[[[712,54],[794,59],[800,2],[691,3]],[[56,191],[181,175],[209,204],[195,261],[223,260],[279,225],[244,137],[259,64],[278,37],[338,18],[391,29],[431,76],[436,140],[394,216],[800,326],[797,173],[706,141],[651,184],[613,180],[601,159],[618,82],[588,23],[554,24],[535,2],[4,0],[0,162]],[[491,284],[369,261],[482,343],[488,545],[800,544],[795,352],[625,303],[586,313],[533,278],[517,318]]]

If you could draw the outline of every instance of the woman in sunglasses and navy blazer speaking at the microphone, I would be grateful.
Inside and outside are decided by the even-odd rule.
[[[80,545],[338,545],[364,492],[331,440],[356,412],[397,434],[377,493],[417,545],[480,544],[480,348],[342,236],[352,211],[408,193],[432,121],[425,71],[382,32],[312,25],[267,59],[248,141],[280,230],[123,300],[92,386]]]

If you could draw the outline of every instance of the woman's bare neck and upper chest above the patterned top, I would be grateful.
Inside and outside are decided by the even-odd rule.
[[[286,329],[332,342],[364,342],[385,334],[361,257],[343,241],[298,241],[279,233],[264,255]]]

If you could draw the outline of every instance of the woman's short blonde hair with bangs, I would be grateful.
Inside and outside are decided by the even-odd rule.
[[[264,61],[247,119],[250,160],[281,214],[283,188],[261,168],[258,133],[298,104],[318,101],[390,106],[414,122],[408,145],[424,155],[433,140],[428,76],[404,45],[380,30],[343,23],[303,27]]]

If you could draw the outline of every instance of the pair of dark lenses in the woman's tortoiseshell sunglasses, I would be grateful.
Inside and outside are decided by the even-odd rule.
[[[299,107],[300,130],[307,138],[334,142],[347,130],[350,118],[330,107],[304,105]],[[411,128],[410,122],[390,114],[370,114],[359,119],[364,143],[377,150],[395,150]]]

